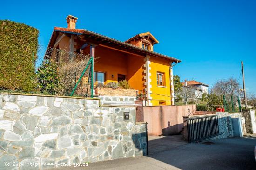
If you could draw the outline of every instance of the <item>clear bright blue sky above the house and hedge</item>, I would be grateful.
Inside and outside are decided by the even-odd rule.
[[[174,67],[182,80],[239,78],[243,60],[246,89],[256,93],[255,0],[1,1],[0,19],[39,29],[45,47],[68,14],[77,28],[121,41],[150,31],[160,42],[154,51],[182,60]]]

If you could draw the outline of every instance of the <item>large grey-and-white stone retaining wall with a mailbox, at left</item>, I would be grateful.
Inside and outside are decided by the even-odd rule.
[[[0,94],[0,170],[47,169],[145,153],[145,124],[136,125],[135,107],[99,102]],[[123,120],[124,111],[129,120]]]

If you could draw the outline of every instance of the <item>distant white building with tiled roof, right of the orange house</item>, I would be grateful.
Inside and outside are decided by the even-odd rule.
[[[201,98],[202,94],[208,94],[209,85],[195,80],[182,82],[183,88],[189,88],[195,93],[196,98]]]

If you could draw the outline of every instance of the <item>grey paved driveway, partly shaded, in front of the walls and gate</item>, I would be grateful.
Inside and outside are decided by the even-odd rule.
[[[149,139],[150,154],[147,157],[91,163],[83,168],[62,167],[59,170],[256,170],[256,138],[215,139],[210,140],[213,142],[211,145],[187,144],[175,141],[175,137]]]

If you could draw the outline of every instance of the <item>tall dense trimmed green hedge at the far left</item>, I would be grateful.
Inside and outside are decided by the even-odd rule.
[[[31,26],[0,20],[0,88],[27,92],[35,88],[38,33]]]

